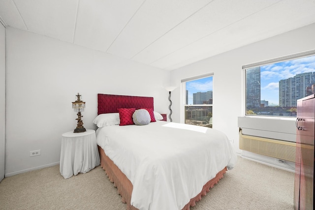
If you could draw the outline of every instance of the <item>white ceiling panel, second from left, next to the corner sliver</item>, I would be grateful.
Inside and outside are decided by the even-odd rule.
[[[73,42],[78,0],[14,0],[28,30]]]

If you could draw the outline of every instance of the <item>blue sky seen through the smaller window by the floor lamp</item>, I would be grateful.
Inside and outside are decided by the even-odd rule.
[[[186,82],[186,90],[188,90],[188,104],[192,104],[192,93],[213,90],[213,77]]]

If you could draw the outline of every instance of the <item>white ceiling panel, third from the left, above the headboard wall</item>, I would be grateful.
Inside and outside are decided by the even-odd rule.
[[[81,0],[74,43],[106,52],[144,0]]]

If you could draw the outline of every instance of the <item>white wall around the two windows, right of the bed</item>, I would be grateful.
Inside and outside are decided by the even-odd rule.
[[[182,79],[214,72],[213,123],[226,133],[237,152],[238,117],[245,115],[244,71],[242,65],[315,49],[315,24],[247,45],[171,72],[171,85],[180,87]],[[211,46],[209,46],[211,48]],[[182,110],[180,89],[172,92],[173,121]],[[294,121],[292,121],[294,123]]]

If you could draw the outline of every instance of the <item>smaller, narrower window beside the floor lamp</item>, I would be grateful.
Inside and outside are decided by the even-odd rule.
[[[212,128],[213,74],[182,80],[185,86],[185,123]]]

